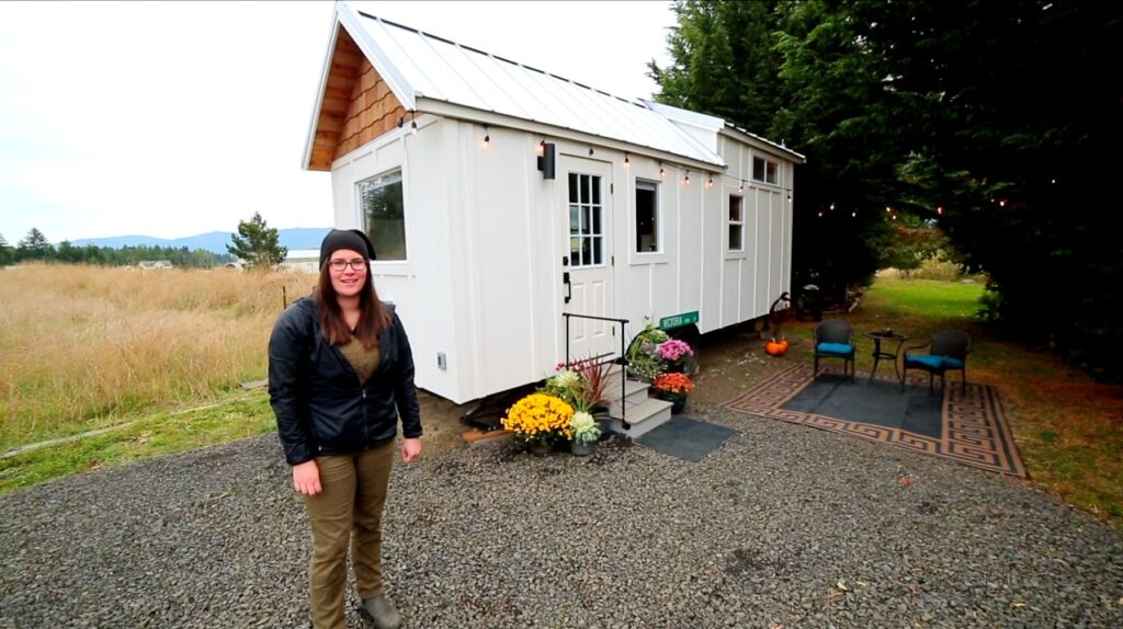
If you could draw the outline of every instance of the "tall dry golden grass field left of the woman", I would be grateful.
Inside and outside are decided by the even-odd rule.
[[[262,379],[304,274],[22,265],[0,272],[0,451]]]

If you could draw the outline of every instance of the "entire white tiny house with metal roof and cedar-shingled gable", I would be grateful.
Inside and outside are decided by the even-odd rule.
[[[619,354],[647,321],[766,315],[802,161],[337,2],[303,167],[331,173],[336,226],[371,235],[418,386],[459,404]]]

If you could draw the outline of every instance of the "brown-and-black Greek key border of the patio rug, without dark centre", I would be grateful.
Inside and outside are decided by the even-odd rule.
[[[837,373],[841,373],[841,371]],[[822,378],[822,372],[820,377]],[[862,374],[859,371],[852,385],[840,386],[862,386],[867,377],[868,373]],[[878,380],[896,381],[892,374],[878,374],[875,381]],[[722,406],[749,415],[783,419],[871,442],[887,443],[923,454],[950,459],[990,472],[1026,478],[1025,466],[1017,453],[1010,426],[1002,414],[998,395],[993,387],[968,382],[965,392],[958,381],[950,379],[943,391],[942,429],[937,438],[853,418],[839,419],[784,408],[785,403],[797,396],[811,382],[812,367],[810,364],[795,364],[773,374],[760,385]],[[937,383],[939,385],[939,380]],[[923,387],[926,391],[929,380],[926,376],[910,377],[909,385]],[[886,387],[882,387],[882,389],[884,390]],[[933,395],[940,395],[939,389]]]

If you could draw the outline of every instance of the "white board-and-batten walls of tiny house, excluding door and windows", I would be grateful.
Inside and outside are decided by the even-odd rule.
[[[614,265],[614,315],[627,340],[659,318],[697,311],[709,332],[767,314],[791,283],[792,165],[778,155],[780,186],[750,182],[748,145],[719,135],[725,175],[686,170],[633,152],[545,138],[558,152],[557,178],[536,165],[540,135],[419,117],[420,132],[393,131],[332,166],[336,225],[360,228],[355,184],[402,169],[408,260],[375,261],[380,296],[398,306],[413,349],[419,387],[456,403],[526,385],[564,360],[562,265],[568,235],[563,156],[606,164],[605,200]],[[706,179],[713,176],[713,186]],[[659,184],[661,251],[634,252],[634,182]],[[746,251],[727,251],[728,195],[745,179]],[[619,343],[619,339],[615,341]],[[615,345],[619,351],[619,344]],[[438,368],[437,354],[447,357]]]

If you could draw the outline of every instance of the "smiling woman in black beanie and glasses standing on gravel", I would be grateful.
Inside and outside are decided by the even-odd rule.
[[[421,419],[410,343],[378,300],[368,258],[366,234],[331,230],[317,289],[282,313],[270,337],[270,404],[312,526],[317,629],[347,626],[348,540],[362,611],[382,629],[401,625],[382,590],[382,510],[398,417],[405,463],[421,453]]]

